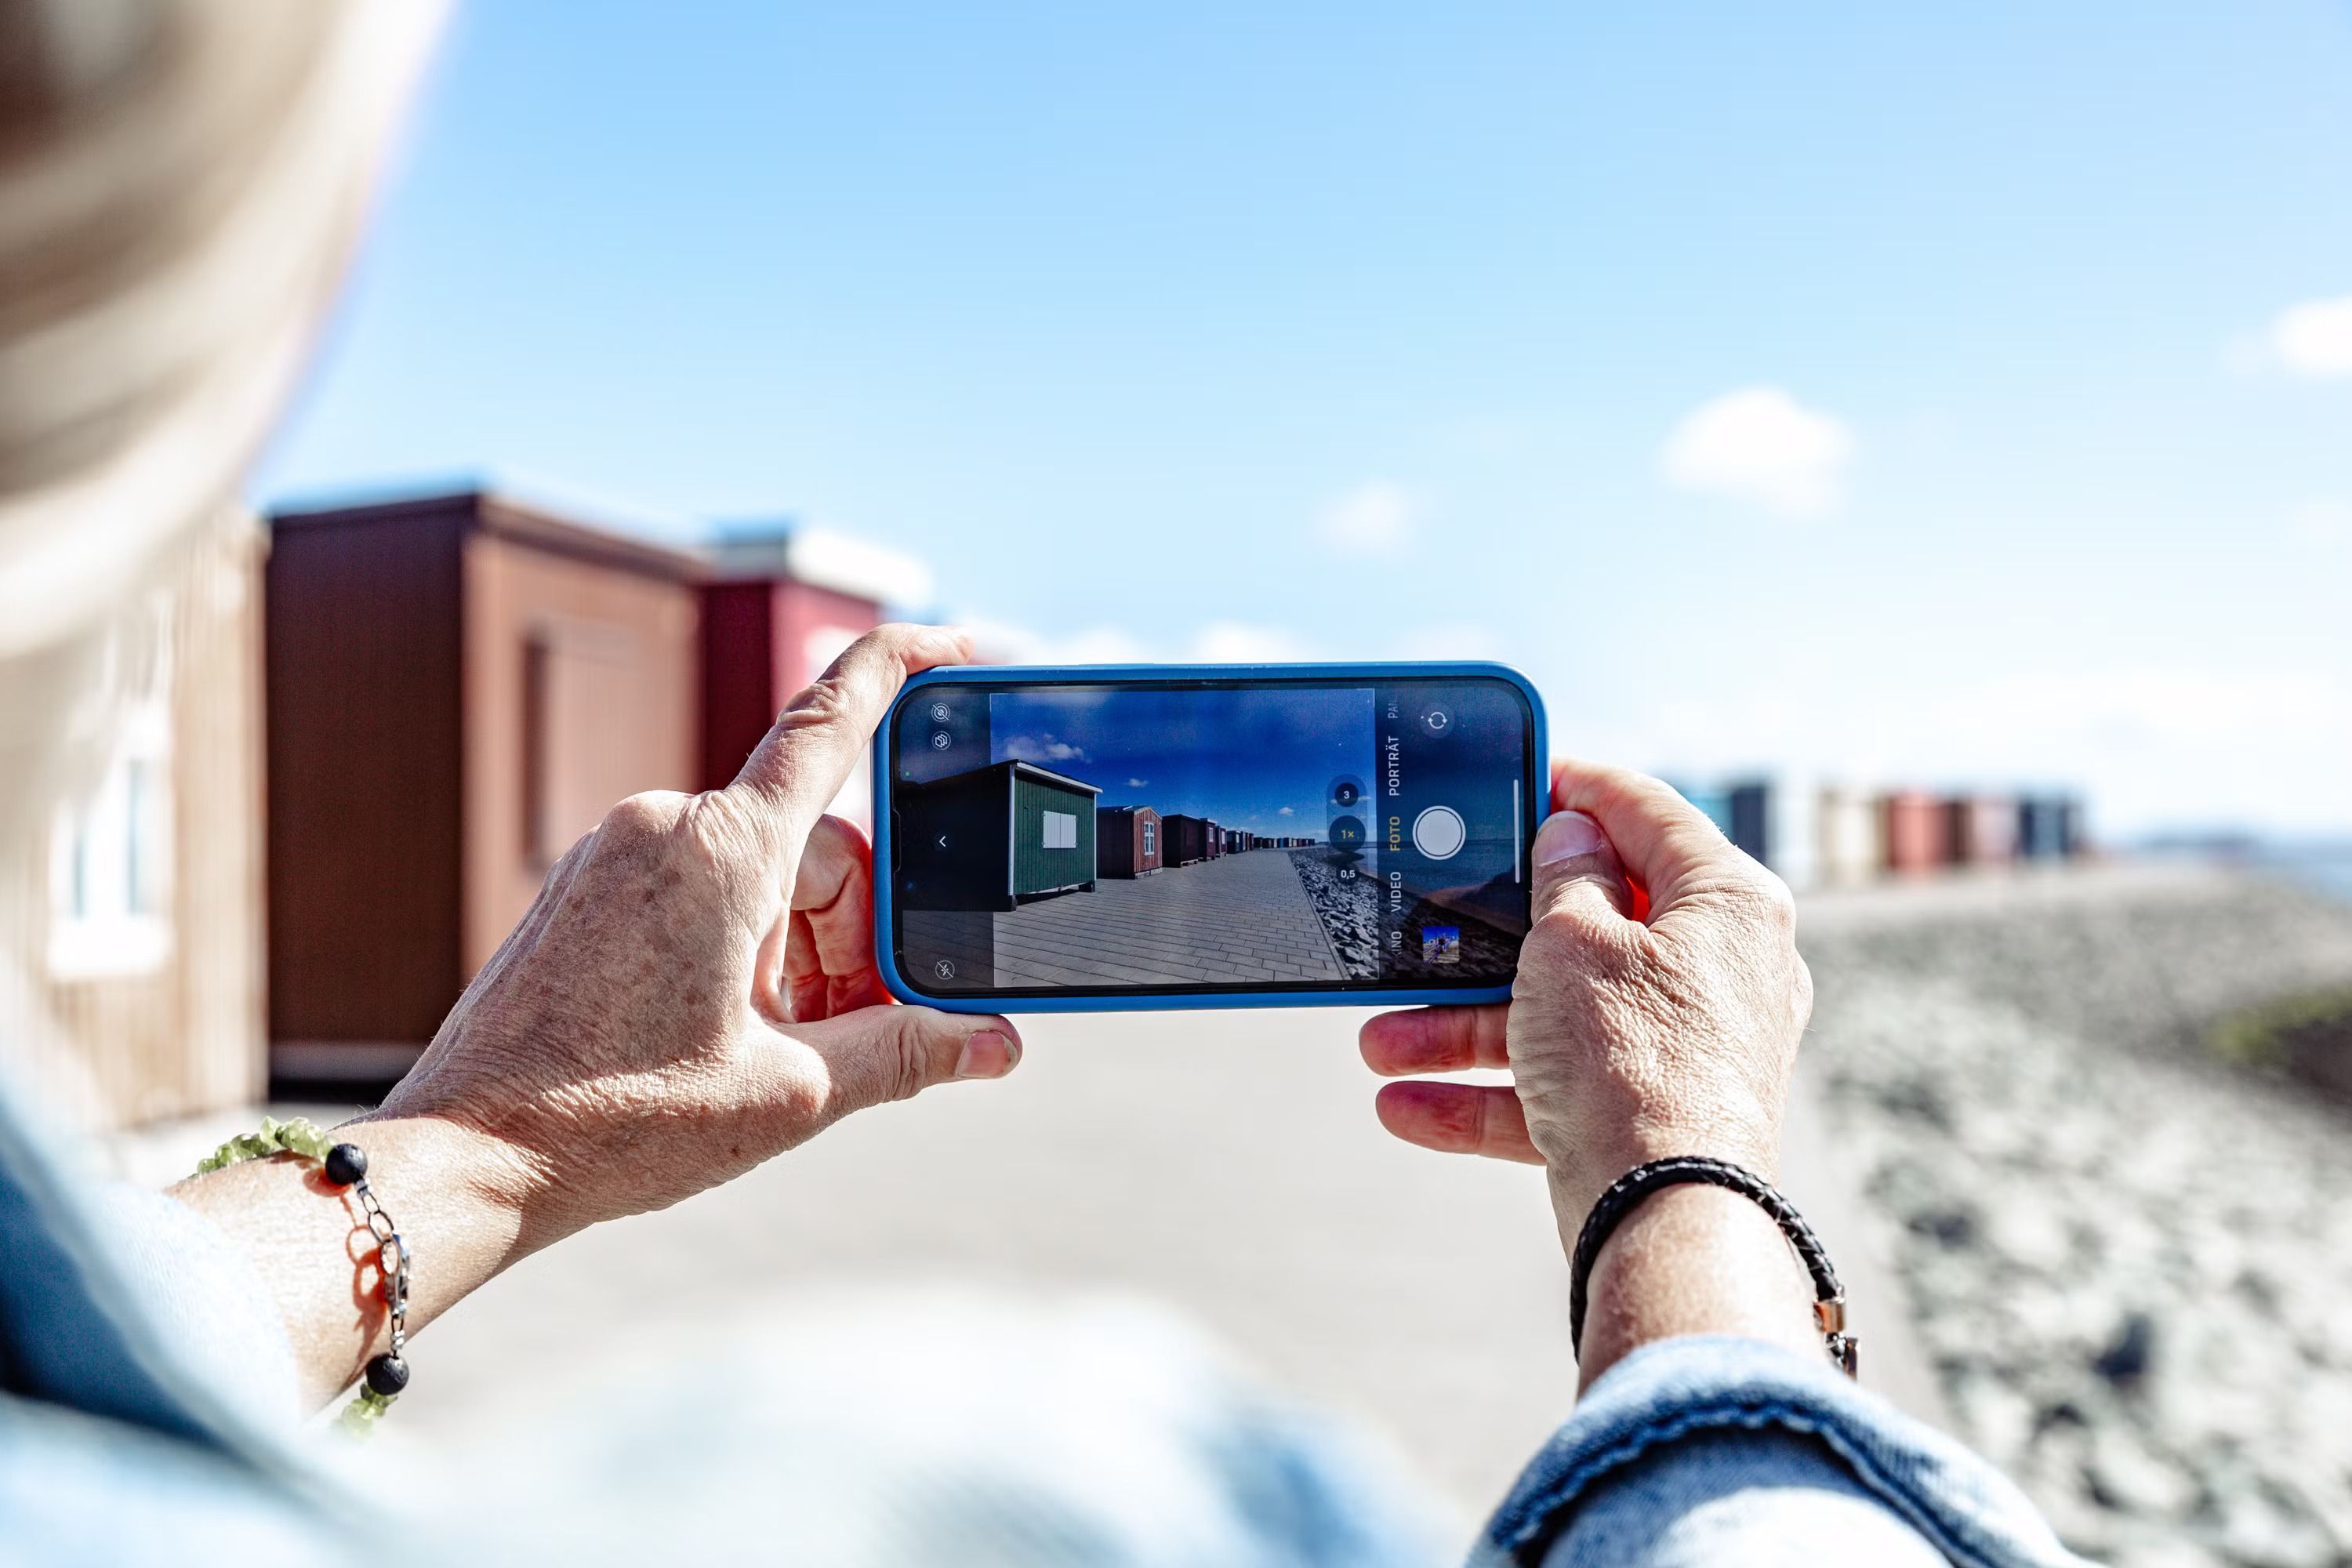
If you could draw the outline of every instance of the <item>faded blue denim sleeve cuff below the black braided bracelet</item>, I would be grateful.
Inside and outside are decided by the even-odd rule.
[[[1863,1537],[1884,1547],[1828,1561],[2082,1561],[1957,1441],[1828,1363],[1715,1335],[1644,1345],[1609,1368],[1522,1472],[1470,1561],[1778,1563],[1790,1547]]]

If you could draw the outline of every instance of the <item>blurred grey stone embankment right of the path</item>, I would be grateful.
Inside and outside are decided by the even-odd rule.
[[[2082,1552],[2352,1563],[2352,1117],[2213,1018],[2352,978],[2218,872],[1806,903],[1806,1044],[1955,1420]]]

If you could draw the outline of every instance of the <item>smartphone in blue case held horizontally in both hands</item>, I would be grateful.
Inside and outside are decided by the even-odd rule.
[[[927,670],[873,776],[882,978],[967,1013],[1503,1001],[1550,799],[1491,663]]]

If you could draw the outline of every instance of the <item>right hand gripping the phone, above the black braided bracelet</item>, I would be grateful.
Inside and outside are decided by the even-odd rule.
[[[1543,1164],[1573,1248],[1602,1190],[1649,1159],[1712,1154],[1773,1180],[1813,980],[1788,886],[1675,790],[1564,762],[1552,806],[1512,1001],[1383,1013],[1362,1051],[1385,1077],[1510,1067],[1510,1086],[1388,1084],[1381,1121]]]

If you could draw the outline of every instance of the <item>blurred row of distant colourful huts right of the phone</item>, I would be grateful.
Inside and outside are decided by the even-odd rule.
[[[1792,884],[1853,884],[1952,867],[2072,860],[2089,849],[2082,799],[2063,792],[1677,783],[1724,835]]]

